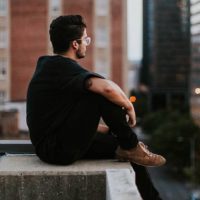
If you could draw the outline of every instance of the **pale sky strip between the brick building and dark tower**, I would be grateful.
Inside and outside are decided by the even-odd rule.
[[[142,0],[128,0],[128,58],[142,58]]]

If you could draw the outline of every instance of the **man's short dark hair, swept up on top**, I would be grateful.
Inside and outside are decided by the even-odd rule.
[[[54,19],[49,30],[53,52],[66,52],[71,41],[82,37],[85,28],[86,24],[80,15],[66,15]]]

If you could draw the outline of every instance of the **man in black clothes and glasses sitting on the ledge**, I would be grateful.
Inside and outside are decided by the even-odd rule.
[[[39,58],[27,93],[27,124],[38,157],[60,165],[114,157],[143,166],[163,165],[165,159],[149,152],[132,131],[135,111],[119,86],[78,64],[91,41],[83,18],[60,16],[49,33],[55,55]],[[101,117],[107,126],[99,124]],[[136,178],[137,171],[146,173],[132,165]],[[142,179],[151,184],[147,174]]]

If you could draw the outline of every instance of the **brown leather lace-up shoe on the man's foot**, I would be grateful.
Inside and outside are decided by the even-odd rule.
[[[120,161],[129,161],[147,167],[158,167],[166,163],[166,159],[151,153],[142,142],[138,142],[137,147],[129,150],[118,147],[116,156]]]

